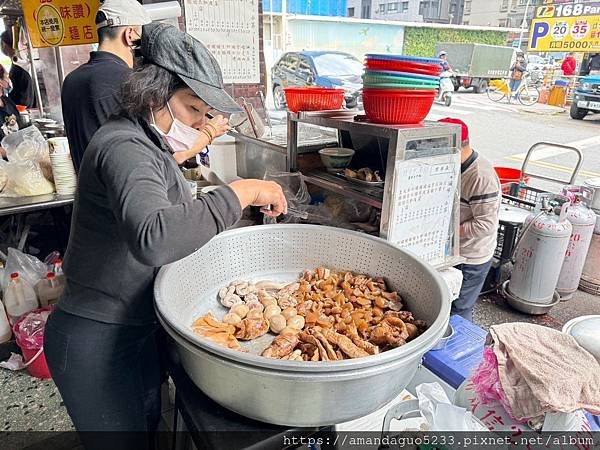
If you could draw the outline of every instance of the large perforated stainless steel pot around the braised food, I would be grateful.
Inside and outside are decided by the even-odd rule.
[[[234,279],[293,280],[327,266],[383,276],[429,329],[403,347],[338,362],[291,362],[223,348],[190,330],[196,317],[225,310],[217,291]],[[388,242],[338,228],[269,225],[223,233],[189,257],[161,269],[156,310],[179,348],[186,372],[221,405],[289,426],[321,426],[367,415],[389,403],[444,334],[448,289],[431,266]],[[272,336],[257,346],[264,348]]]

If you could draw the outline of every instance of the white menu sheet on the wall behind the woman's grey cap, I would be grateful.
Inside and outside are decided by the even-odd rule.
[[[225,83],[260,83],[258,0],[185,0],[186,31],[217,58]]]

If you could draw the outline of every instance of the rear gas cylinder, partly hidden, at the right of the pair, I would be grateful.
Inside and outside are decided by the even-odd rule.
[[[585,258],[594,234],[596,214],[583,203],[582,196],[577,194],[575,200],[567,207],[567,220],[571,222],[573,230],[556,285],[556,291],[563,301],[573,297],[573,293],[579,286]]]

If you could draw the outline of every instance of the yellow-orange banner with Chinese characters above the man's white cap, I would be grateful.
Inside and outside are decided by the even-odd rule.
[[[98,42],[100,0],[23,1],[25,25],[35,48]]]

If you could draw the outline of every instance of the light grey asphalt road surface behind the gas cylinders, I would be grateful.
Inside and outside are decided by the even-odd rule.
[[[573,120],[568,111],[544,105],[523,107],[506,102],[494,103],[486,94],[456,93],[449,108],[435,104],[430,120],[443,117],[464,120],[470,130],[471,144],[495,166],[520,168],[527,150],[537,142],[565,144],[579,148],[583,166],[578,181],[600,177],[600,115]],[[575,155],[561,148],[536,150],[528,172],[568,180]],[[536,185],[536,181],[532,184]],[[548,188],[540,182],[540,187]]]

